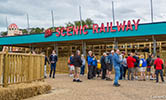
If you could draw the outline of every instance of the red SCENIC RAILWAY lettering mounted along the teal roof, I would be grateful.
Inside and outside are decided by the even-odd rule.
[[[138,25],[139,25],[140,19],[137,21],[135,20],[128,20],[123,21],[123,23],[119,23],[118,21],[116,22],[116,28],[113,28],[112,22],[107,22],[105,25],[104,23],[101,23],[100,27],[98,24],[93,24],[93,33],[101,33],[101,32],[119,32],[119,31],[128,31],[131,30],[133,31],[133,26],[135,30],[138,30]],[[132,25],[133,24],[133,25]],[[87,25],[84,25],[83,27],[81,26],[69,26],[67,28],[62,27],[62,28],[56,28],[56,36],[72,36],[72,35],[79,35],[79,34],[88,34],[88,29]],[[51,36],[52,31],[51,30],[46,30],[45,32],[45,37]]]

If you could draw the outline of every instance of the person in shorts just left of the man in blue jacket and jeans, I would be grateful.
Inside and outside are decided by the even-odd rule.
[[[111,71],[112,71],[112,58],[111,56],[109,56],[110,54],[107,53],[107,56],[105,58],[105,63],[106,63],[106,68],[107,68],[107,77],[106,80],[107,81],[112,81],[111,78]]]

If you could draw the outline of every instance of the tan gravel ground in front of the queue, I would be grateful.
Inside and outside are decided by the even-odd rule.
[[[81,79],[73,83],[68,75],[56,75],[45,80],[52,86],[50,93],[26,100],[166,100],[166,83],[122,80],[114,87],[113,81]]]

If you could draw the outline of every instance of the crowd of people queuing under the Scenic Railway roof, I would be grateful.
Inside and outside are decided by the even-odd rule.
[[[49,59],[46,57],[45,62],[51,64],[50,77],[55,78],[56,62],[58,57],[56,52],[53,51]],[[88,64],[87,78],[89,80],[101,77],[102,80],[113,81],[114,86],[119,87],[118,80],[156,80],[159,82],[159,74],[162,82],[164,63],[160,56],[155,57],[153,54],[149,55],[145,59],[144,55],[138,53],[120,52],[120,50],[112,50],[111,52],[103,53],[100,59],[97,59],[92,51],[88,52],[88,56],[85,58],[81,55],[80,51],[72,53],[68,60],[69,74],[73,77],[73,82],[82,82],[79,75],[85,74],[85,65]],[[45,63],[46,65],[46,63]],[[112,71],[114,69],[115,77],[112,77]],[[127,76],[127,77],[126,77]],[[46,77],[46,73],[45,73]]]

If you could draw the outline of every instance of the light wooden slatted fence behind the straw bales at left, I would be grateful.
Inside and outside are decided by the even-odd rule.
[[[44,78],[44,56],[0,53],[0,85],[31,82]]]

